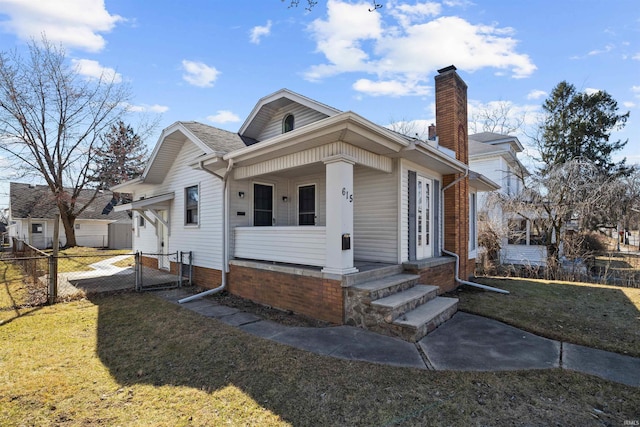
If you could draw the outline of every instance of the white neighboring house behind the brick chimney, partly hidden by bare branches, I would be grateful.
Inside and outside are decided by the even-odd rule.
[[[521,177],[529,174],[518,159],[524,150],[515,136],[492,132],[469,135],[469,166],[500,185],[506,195],[522,191]],[[547,249],[542,236],[536,233],[531,221],[521,217],[509,217],[499,207],[487,206],[488,193],[478,196],[478,209],[487,219],[500,227],[503,237],[500,242],[500,261],[503,264],[545,265]]]

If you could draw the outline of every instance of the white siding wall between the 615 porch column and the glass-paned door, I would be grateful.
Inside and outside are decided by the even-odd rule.
[[[397,182],[395,173],[354,167],[354,259],[397,263]]]

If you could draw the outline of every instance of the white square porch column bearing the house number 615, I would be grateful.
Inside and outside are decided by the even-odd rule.
[[[349,274],[353,266],[353,165],[344,155],[323,160],[326,169],[326,246],[323,273]],[[348,236],[347,236],[348,235]],[[343,249],[343,236],[349,249]]]

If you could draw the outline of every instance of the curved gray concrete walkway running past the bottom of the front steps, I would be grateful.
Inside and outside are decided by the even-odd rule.
[[[189,295],[184,289],[156,294],[176,304]],[[640,387],[638,358],[549,340],[463,312],[412,344],[351,326],[285,326],[206,298],[181,306],[258,337],[342,359],[438,371],[563,368]]]

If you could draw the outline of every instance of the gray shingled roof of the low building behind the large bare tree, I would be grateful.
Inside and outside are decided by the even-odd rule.
[[[70,191],[69,191],[70,192]],[[93,195],[94,190],[83,190],[76,204],[84,206]],[[105,190],[99,193],[95,200],[85,209],[78,219],[101,219],[117,221],[128,219],[126,212],[114,212],[110,209],[108,214],[103,214],[105,208],[111,208],[113,193]],[[9,203],[11,204],[11,216],[13,218],[39,218],[53,219],[59,213],[53,194],[46,185],[30,185],[12,182],[9,185]]]

